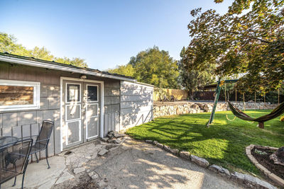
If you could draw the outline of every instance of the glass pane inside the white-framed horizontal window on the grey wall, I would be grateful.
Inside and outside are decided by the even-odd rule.
[[[33,104],[33,86],[1,86],[0,105]]]

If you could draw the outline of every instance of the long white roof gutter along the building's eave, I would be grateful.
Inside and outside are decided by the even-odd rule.
[[[79,74],[87,74],[87,75],[92,75],[92,76],[100,76],[104,78],[110,78],[110,79],[119,79],[119,80],[124,80],[124,81],[132,81],[136,82],[136,79],[130,79],[126,77],[121,77],[121,76],[113,76],[113,75],[108,75],[108,74],[101,74],[97,73],[94,71],[87,71],[87,70],[81,70],[81,69],[76,69],[76,68],[70,68],[70,67],[63,67],[60,65],[53,65],[53,64],[48,64],[44,62],[37,62],[37,61],[31,61],[28,59],[18,59],[14,57],[6,57],[0,55],[0,61],[4,62],[10,62],[13,64],[23,64],[31,67],[42,67],[42,68],[47,68],[47,69],[57,69],[60,71],[70,71],[74,73],[79,73]]]

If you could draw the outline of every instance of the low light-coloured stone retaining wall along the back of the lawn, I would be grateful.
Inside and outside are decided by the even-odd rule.
[[[158,118],[165,115],[178,115],[185,113],[209,113],[212,112],[214,103],[208,102],[182,102],[179,103],[164,103],[164,104],[154,104],[153,106],[153,116]],[[244,103],[237,102],[234,103],[237,108],[244,110]],[[246,110],[268,110],[274,109],[277,104],[271,103],[254,103],[252,101],[246,102]],[[222,102],[217,104],[217,111],[226,111],[229,110],[227,103]]]

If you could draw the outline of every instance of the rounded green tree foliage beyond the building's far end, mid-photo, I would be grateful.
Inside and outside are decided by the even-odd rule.
[[[143,50],[131,57],[129,64],[110,69],[111,73],[131,73],[137,81],[153,84],[159,88],[178,88],[178,62],[158,47]],[[131,66],[130,66],[131,65]],[[133,70],[131,69],[133,68]]]

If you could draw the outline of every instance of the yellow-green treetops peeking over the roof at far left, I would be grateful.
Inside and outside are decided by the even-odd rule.
[[[20,55],[24,57],[34,57],[36,59],[44,59],[48,61],[55,61],[62,64],[71,64],[76,67],[87,67],[84,59],[74,57],[69,59],[67,57],[60,58],[51,55],[45,47],[34,47],[33,50],[28,50],[20,44],[16,43],[16,38],[13,35],[0,33],[0,52],[8,52],[13,55]]]

